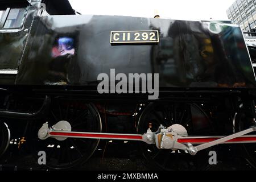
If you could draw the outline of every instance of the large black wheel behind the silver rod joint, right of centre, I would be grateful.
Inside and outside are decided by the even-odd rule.
[[[179,124],[185,127],[189,136],[209,135],[212,124],[207,114],[196,104],[150,104],[143,111],[138,123],[138,133],[146,133],[160,125],[169,127]],[[192,156],[183,150],[159,150],[155,145],[141,143],[143,155],[154,166],[164,170],[205,170],[209,168],[208,150],[199,151]]]

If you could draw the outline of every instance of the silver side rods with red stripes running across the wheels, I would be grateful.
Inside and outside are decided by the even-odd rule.
[[[56,127],[57,126],[57,127]],[[62,129],[56,130],[56,128]],[[256,131],[256,127],[251,127],[247,130],[240,131],[228,136],[213,136],[213,137],[182,137],[160,126],[155,133],[151,129],[147,130],[146,134],[112,134],[112,133],[88,133],[71,131],[71,126],[66,121],[61,121],[53,127],[49,127],[48,123],[44,123],[38,131],[38,137],[45,140],[49,137],[57,140],[65,140],[67,138],[85,138],[85,139],[112,139],[112,140],[137,140],[147,144],[156,144],[159,149],[172,150],[187,150],[189,154],[196,155],[197,151],[204,150],[217,144],[230,143],[256,143],[256,135],[246,135]],[[193,146],[193,144],[198,144]]]

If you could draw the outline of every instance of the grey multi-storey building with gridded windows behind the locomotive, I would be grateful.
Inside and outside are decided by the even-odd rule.
[[[237,0],[226,11],[234,24],[240,24],[243,31],[256,27],[256,0]],[[250,24],[250,26],[249,26]]]

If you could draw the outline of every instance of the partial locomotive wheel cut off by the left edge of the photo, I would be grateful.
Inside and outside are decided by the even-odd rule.
[[[10,143],[10,130],[5,122],[0,122],[0,157],[7,150]]]

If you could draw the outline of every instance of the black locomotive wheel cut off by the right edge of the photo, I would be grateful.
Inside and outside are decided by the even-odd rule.
[[[251,126],[255,126],[255,123],[246,122],[245,116],[241,113],[236,114],[235,118],[236,131],[242,131],[249,129]],[[248,135],[256,135],[256,131],[249,133]],[[256,143],[241,144],[243,150],[243,157],[254,168],[256,168]]]

